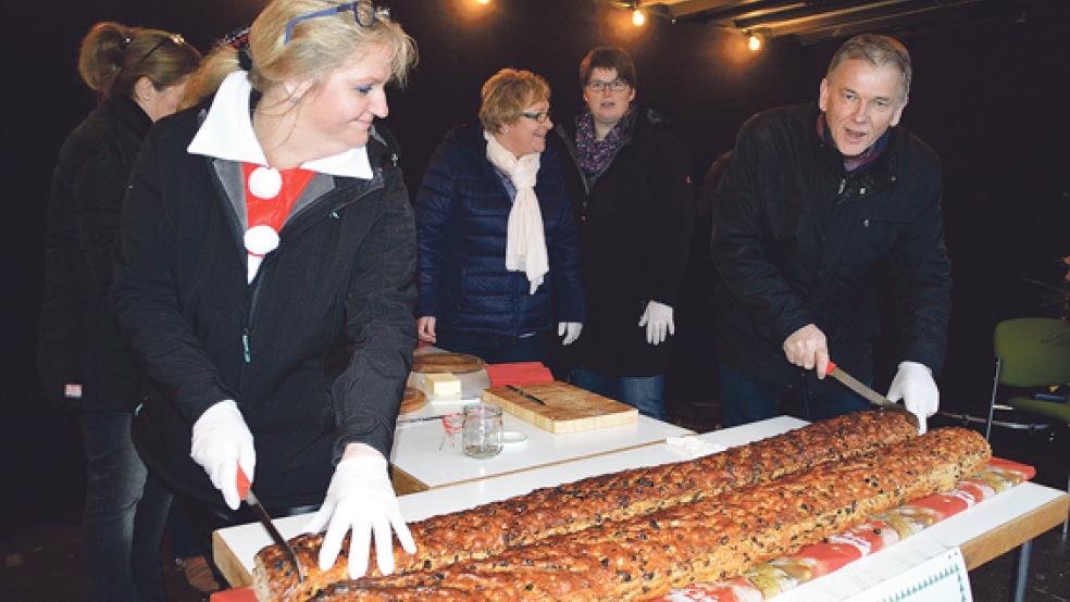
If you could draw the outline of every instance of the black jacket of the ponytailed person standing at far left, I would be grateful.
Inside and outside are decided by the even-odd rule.
[[[130,411],[139,378],[108,309],[126,183],[152,121],[112,98],[76,127],[52,174],[38,366],[45,398],[73,410]],[[82,398],[66,397],[67,384]]]

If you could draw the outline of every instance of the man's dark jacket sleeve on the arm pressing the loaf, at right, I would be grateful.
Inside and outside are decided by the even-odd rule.
[[[919,176],[922,210],[912,217],[891,253],[892,294],[899,360],[920,362],[935,373],[944,361],[951,311],[951,265],[944,246],[941,174]]]

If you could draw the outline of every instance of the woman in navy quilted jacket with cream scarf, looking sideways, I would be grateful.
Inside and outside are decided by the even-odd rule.
[[[564,344],[584,321],[576,225],[546,145],[550,89],[501,70],[482,97],[416,196],[420,338],[489,363],[542,361],[555,321]]]

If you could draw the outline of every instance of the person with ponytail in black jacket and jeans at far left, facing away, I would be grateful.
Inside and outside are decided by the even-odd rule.
[[[147,485],[130,440],[141,386],[108,291],[134,160],[152,123],[175,112],[200,58],[177,34],[94,25],[78,71],[100,103],[67,136],[52,175],[38,363],[46,399],[77,412],[82,426],[89,600],[163,599],[170,496]]]

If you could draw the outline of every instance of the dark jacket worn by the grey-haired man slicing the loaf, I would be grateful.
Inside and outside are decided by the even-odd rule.
[[[719,360],[771,382],[800,368],[784,340],[813,323],[833,361],[873,375],[878,294],[895,308],[896,359],[938,369],[950,312],[950,263],[935,153],[894,128],[876,163],[847,174],[817,134],[814,103],[751,117],[713,199],[711,251]]]

